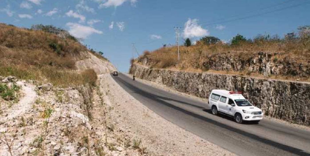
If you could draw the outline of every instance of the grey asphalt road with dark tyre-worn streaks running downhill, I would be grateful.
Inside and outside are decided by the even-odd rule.
[[[114,80],[149,109],[216,145],[241,156],[310,156],[310,131],[271,120],[237,124],[210,114],[206,101],[133,81],[120,73]]]

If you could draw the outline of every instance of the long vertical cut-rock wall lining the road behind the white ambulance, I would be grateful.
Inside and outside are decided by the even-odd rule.
[[[133,64],[130,73],[201,98],[208,98],[212,89],[242,91],[265,115],[310,125],[310,83],[150,69],[139,64]]]

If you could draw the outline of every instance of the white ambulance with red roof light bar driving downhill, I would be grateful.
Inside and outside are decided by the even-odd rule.
[[[219,112],[232,116],[237,123],[244,120],[258,123],[263,119],[262,110],[253,106],[241,92],[212,90],[208,103],[212,114],[217,115]]]

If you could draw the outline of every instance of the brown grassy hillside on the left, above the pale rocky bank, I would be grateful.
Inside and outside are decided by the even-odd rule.
[[[0,75],[51,82],[61,87],[94,83],[96,73],[93,70],[77,73],[75,62],[87,52],[106,59],[88,50],[66,31],[49,30],[0,24]]]

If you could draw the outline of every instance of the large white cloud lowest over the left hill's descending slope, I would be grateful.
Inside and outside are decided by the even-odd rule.
[[[69,33],[71,35],[81,39],[85,39],[94,33],[103,34],[102,31],[96,30],[93,27],[83,26],[78,23],[67,23],[66,26],[69,27]]]

